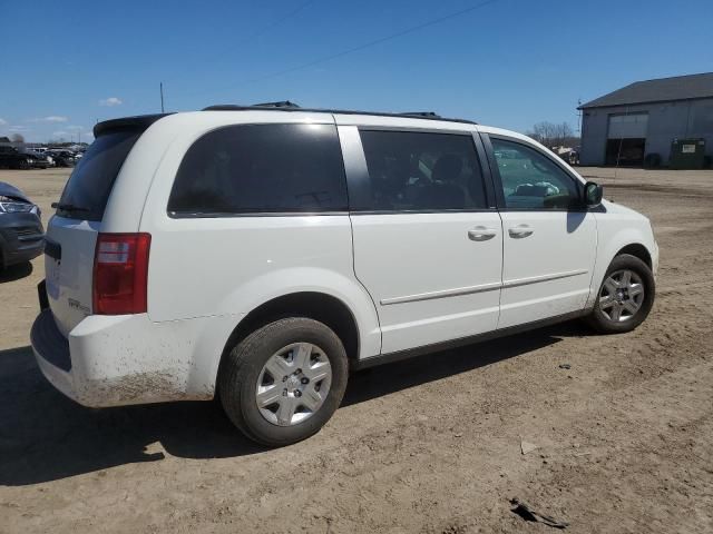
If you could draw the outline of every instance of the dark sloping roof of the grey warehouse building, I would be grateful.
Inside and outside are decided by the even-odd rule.
[[[713,98],[713,72],[636,81],[590,102],[583,103],[577,109],[667,102],[694,98]]]

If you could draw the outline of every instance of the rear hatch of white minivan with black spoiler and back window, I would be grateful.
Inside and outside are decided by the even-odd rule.
[[[121,166],[144,130],[163,116],[106,121],[72,171],[47,228],[47,296],[67,336],[92,314],[92,270],[101,219]]]

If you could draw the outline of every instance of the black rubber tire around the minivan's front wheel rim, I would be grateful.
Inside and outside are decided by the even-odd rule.
[[[644,285],[644,299],[638,310],[631,318],[624,322],[615,322],[607,317],[604,312],[602,312],[599,307],[599,299],[602,298],[604,284],[609,275],[623,269],[632,270],[636,275],[638,275],[642,284]],[[631,332],[646,319],[648,313],[651,312],[651,308],[654,305],[655,295],[656,284],[654,281],[654,275],[652,274],[651,268],[636,256],[622,254],[619,256],[616,256],[612,260],[609,268],[606,270],[606,274],[604,275],[604,279],[602,281],[602,286],[597,291],[597,299],[594,304],[594,309],[592,310],[592,314],[587,316],[586,322],[587,324],[589,324],[589,326],[592,326],[600,334],[623,334],[625,332]]]

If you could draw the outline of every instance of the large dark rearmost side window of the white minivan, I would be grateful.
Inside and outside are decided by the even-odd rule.
[[[333,125],[241,125],[186,152],[172,215],[345,211],[344,164]]]

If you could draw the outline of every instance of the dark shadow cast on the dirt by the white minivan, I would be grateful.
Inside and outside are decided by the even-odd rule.
[[[579,335],[586,332],[563,324],[377,367],[352,376],[343,404],[359,404]],[[243,437],[217,403],[80,406],[47,383],[30,347],[0,350],[0,485],[37,484],[156,462],[165,457],[162,451],[185,458],[270,452]]]

